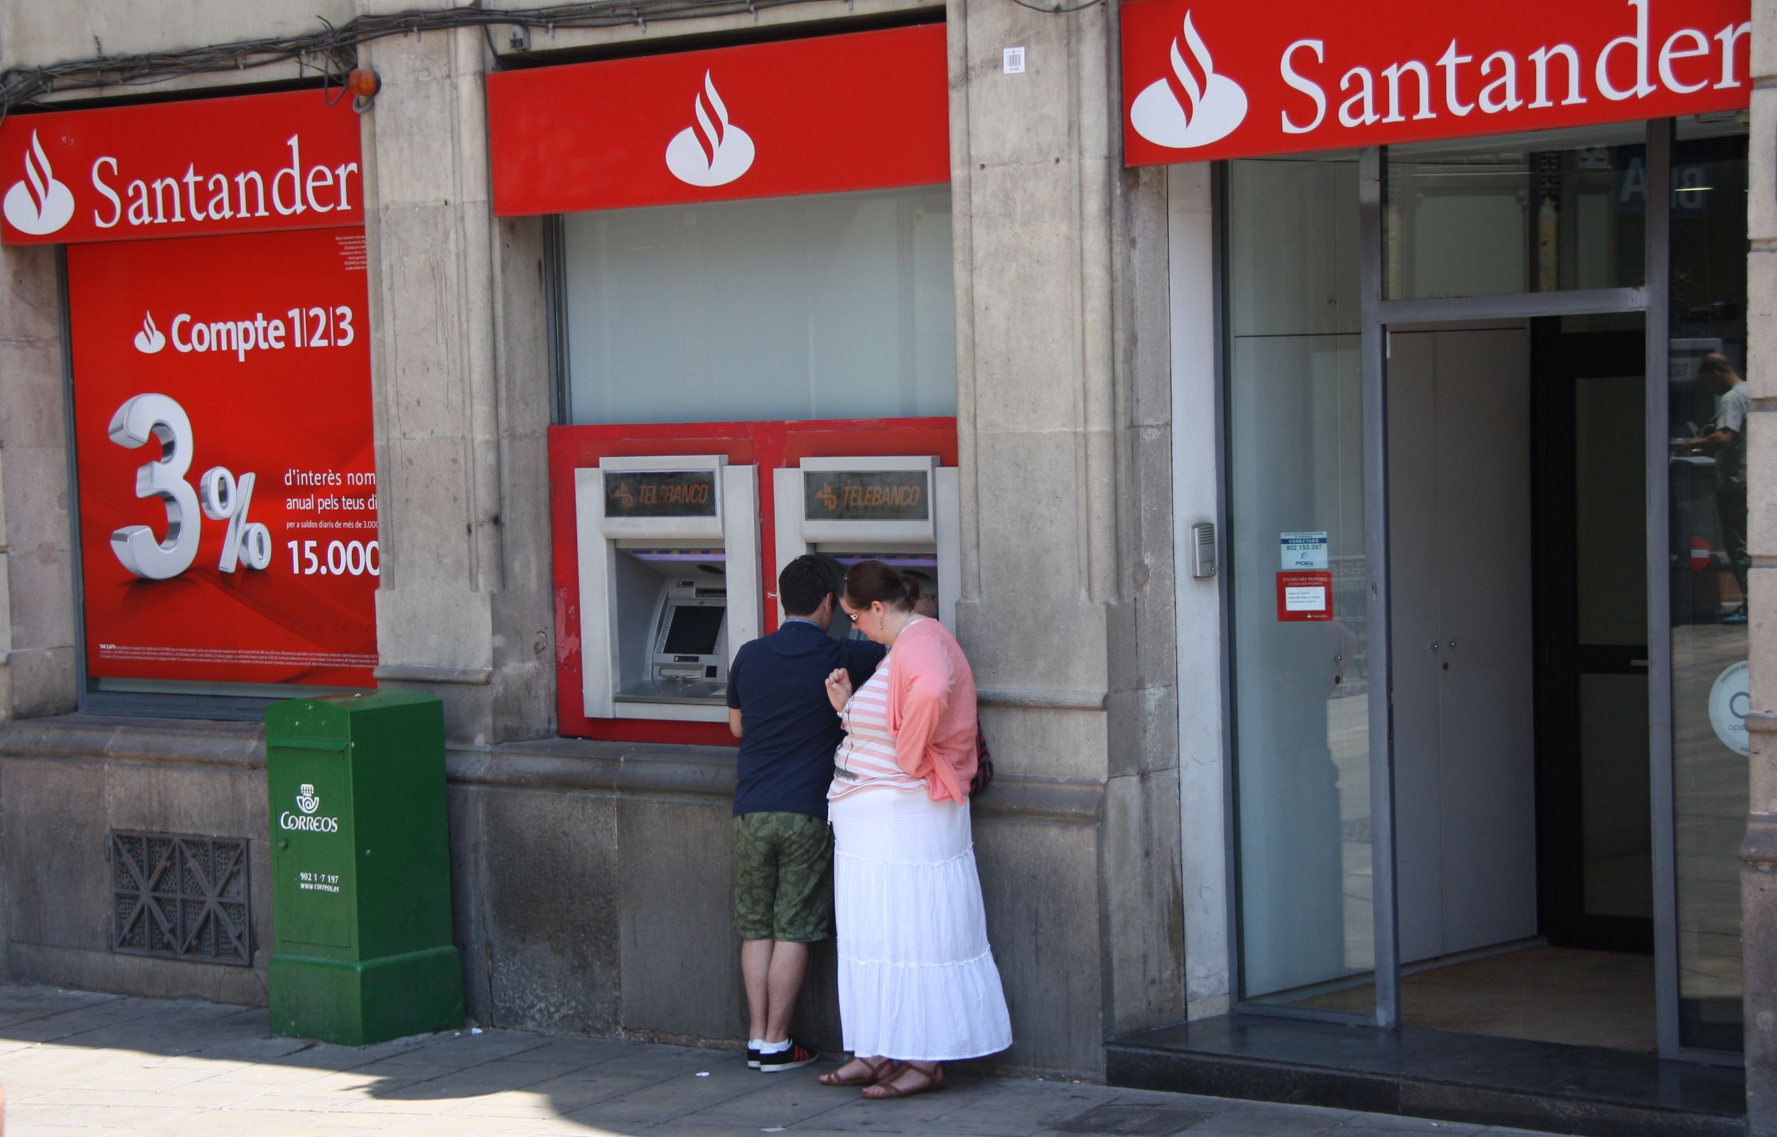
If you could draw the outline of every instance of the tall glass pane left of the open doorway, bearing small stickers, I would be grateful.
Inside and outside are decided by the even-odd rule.
[[[1295,998],[1375,959],[1358,171],[1235,162],[1228,190],[1242,986]],[[1279,620],[1285,533],[1326,535],[1333,618]]]

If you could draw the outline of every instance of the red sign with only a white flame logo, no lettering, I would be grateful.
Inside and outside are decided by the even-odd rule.
[[[487,76],[494,213],[951,179],[944,25]]]

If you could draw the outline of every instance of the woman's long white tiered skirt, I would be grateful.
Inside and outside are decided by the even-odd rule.
[[[949,1062],[1011,1046],[968,807],[873,789],[828,815],[846,1050]]]

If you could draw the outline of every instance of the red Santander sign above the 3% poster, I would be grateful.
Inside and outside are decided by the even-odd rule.
[[[11,114],[0,219],[7,245],[359,226],[359,117],[320,91]]]

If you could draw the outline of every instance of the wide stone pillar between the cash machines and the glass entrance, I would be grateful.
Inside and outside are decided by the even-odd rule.
[[[990,879],[990,929],[1052,929],[1002,965],[1015,1030],[1080,1039],[1047,1061],[1095,1069],[1105,1034],[1183,1016],[1166,309],[1139,302],[1166,295],[1164,178],[1120,165],[1114,5],[952,0],[949,36],[960,638],[1006,769],[1102,787],[1089,833],[977,830],[990,878],[1015,855],[1089,881],[1096,926]]]

